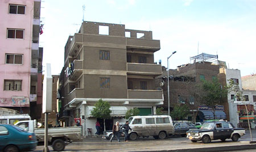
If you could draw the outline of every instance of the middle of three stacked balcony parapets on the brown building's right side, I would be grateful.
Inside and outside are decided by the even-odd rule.
[[[161,65],[127,63],[127,74],[161,75]]]

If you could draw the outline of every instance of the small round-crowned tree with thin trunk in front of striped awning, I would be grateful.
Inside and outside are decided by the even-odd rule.
[[[105,127],[105,119],[110,118],[110,113],[112,112],[110,108],[110,104],[108,102],[104,102],[102,99],[98,100],[96,104],[94,104],[95,108],[92,110],[92,116],[100,119],[104,119],[104,131]]]

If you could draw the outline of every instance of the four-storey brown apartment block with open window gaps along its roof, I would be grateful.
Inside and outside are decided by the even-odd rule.
[[[60,75],[61,112],[65,125],[80,119],[84,136],[96,132],[93,105],[102,99],[110,103],[112,118],[125,122],[128,109],[137,107],[140,115],[154,115],[163,104],[163,91],[156,90],[155,77],[162,74],[154,63],[160,40],[151,31],[125,29],[124,24],[83,22],[78,33],[65,45],[64,67]],[[60,102],[59,99],[59,102]],[[103,127],[103,126],[102,126]]]

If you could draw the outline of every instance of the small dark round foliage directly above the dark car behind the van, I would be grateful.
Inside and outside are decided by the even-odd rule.
[[[189,108],[186,104],[175,105],[170,114],[173,120],[184,120],[189,114]]]

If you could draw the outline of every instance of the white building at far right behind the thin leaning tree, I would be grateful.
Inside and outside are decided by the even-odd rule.
[[[225,107],[225,112],[229,112],[229,120],[235,126],[240,123],[240,117],[246,115],[245,104],[251,115],[255,113],[256,104],[255,104],[255,97],[256,91],[255,90],[245,90],[243,89],[243,83],[241,79],[241,73],[238,69],[220,69],[220,74],[218,75],[220,82],[222,85],[228,85],[229,79],[232,79],[242,91],[242,94],[245,98],[245,101],[240,101],[240,99],[236,98],[236,92],[229,92],[228,99],[226,103],[228,103],[228,107]]]

